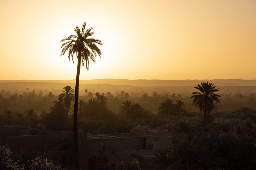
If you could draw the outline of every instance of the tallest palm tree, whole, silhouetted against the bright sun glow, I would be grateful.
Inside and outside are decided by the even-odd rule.
[[[75,86],[75,103],[74,103],[74,165],[75,168],[78,169],[79,161],[78,161],[78,129],[77,129],[77,111],[78,111],[78,91],[79,91],[79,76],[80,76],[80,68],[82,65],[85,66],[87,71],[89,70],[89,61],[95,63],[94,57],[97,54],[102,54],[100,48],[98,48],[97,44],[102,45],[102,42],[98,39],[90,38],[94,33],[92,32],[93,27],[88,28],[85,30],[86,22],[82,25],[82,30],[78,26],[75,27],[74,31],[76,35],[70,35],[69,37],[62,39],[60,42],[63,42],[61,45],[61,56],[68,51],[68,59],[70,62],[70,58],[72,59],[73,63],[73,56],[76,53],[78,62],[77,62],[77,76],[76,76],[76,86]],[[82,64],[81,64],[82,63]]]

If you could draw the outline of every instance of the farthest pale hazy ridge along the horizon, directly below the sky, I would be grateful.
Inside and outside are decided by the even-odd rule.
[[[243,79],[214,79],[214,80],[127,80],[127,79],[95,79],[80,80],[80,84],[112,84],[130,86],[195,86],[201,82],[213,82],[215,86],[256,86],[256,80]],[[7,82],[40,82],[40,83],[75,83],[75,80],[0,80],[0,83]]]

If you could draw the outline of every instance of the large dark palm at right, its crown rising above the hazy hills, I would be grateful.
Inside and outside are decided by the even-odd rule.
[[[219,92],[219,88],[213,86],[214,84],[207,82],[201,82],[201,86],[197,84],[196,88],[199,92],[193,92],[193,104],[195,107],[200,108],[200,112],[204,112],[204,122],[207,119],[207,113],[210,113],[214,109],[214,102],[220,103],[218,97],[221,97],[214,92]]]

